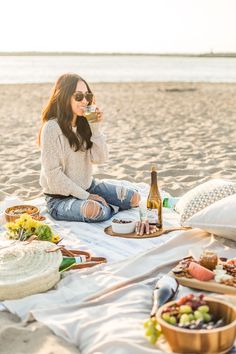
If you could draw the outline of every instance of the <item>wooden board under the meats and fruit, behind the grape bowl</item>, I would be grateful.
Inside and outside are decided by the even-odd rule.
[[[178,282],[189,288],[206,290],[214,293],[236,295],[236,288],[233,286],[217,283],[215,280],[200,281],[194,278],[178,277],[173,272],[170,273]]]

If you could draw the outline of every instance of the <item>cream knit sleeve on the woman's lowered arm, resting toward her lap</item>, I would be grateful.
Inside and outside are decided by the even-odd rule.
[[[74,183],[63,172],[63,146],[57,123],[47,122],[41,134],[41,163],[47,185],[52,194],[72,195],[87,199],[89,193]]]

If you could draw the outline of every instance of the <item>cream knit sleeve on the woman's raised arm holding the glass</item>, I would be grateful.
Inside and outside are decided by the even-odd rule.
[[[105,163],[108,160],[108,149],[105,135],[100,129],[100,123],[91,123],[91,141],[93,146],[90,149],[91,161],[95,164]]]

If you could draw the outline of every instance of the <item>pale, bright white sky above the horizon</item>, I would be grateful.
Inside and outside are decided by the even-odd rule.
[[[0,0],[0,52],[236,52],[236,0]]]

